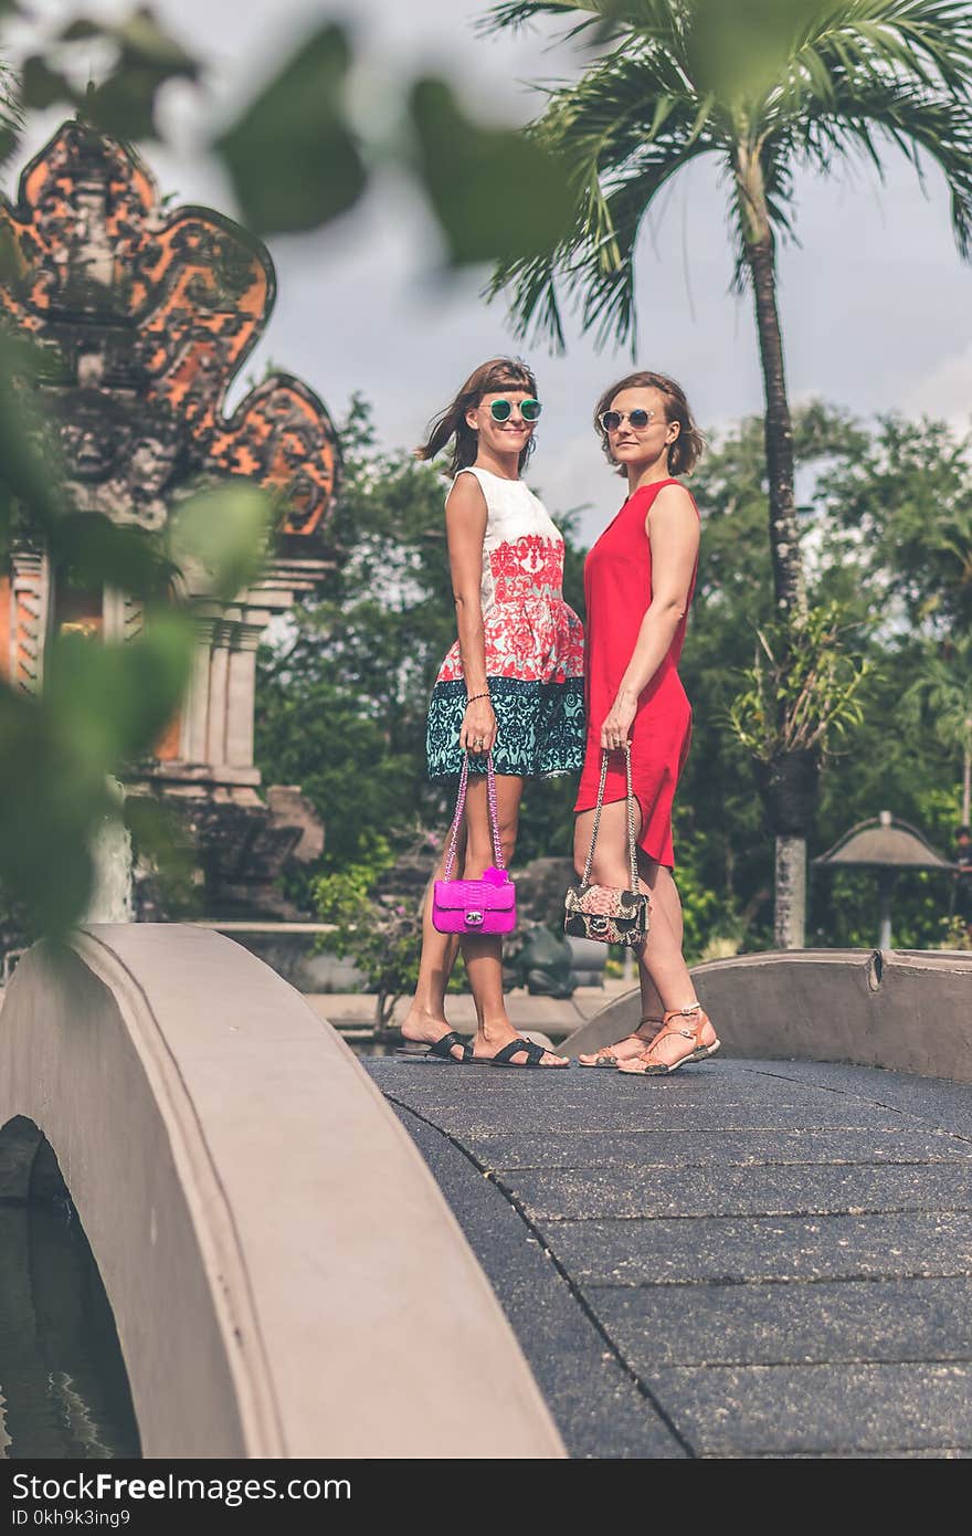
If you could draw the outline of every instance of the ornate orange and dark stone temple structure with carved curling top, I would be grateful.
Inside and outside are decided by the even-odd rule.
[[[321,839],[307,814],[287,825],[258,794],[255,653],[332,562],[339,452],[326,407],[292,375],[266,378],[226,413],[273,306],[269,252],[212,209],[167,209],[140,160],[77,121],[25,169],[17,203],[0,198],[0,240],[8,324],[57,359],[41,389],[80,510],[157,531],[200,481],[244,476],[284,496],[260,581],[232,602],[181,594],[198,637],[192,687],[132,785],[184,803],[210,909],[279,909],[272,883],[286,857],[313,857]],[[58,628],[117,642],[143,628],[124,593],[68,599],[55,587],[45,551],[15,544],[0,570],[0,670],[26,691],[40,687]]]

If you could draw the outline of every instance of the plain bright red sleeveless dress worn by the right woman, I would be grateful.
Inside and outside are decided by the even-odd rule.
[[[623,504],[590,550],[584,565],[587,599],[587,751],[574,811],[593,811],[600,780],[600,727],[614,703],[620,679],[637,644],[645,611],[651,604],[651,544],[645,518],[662,485],[676,479],[642,485]],[[693,499],[693,505],[696,505]],[[696,507],[696,513],[699,508]],[[696,568],[688,604],[696,590]],[[688,604],[668,654],[637,702],[631,725],[631,783],[642,809],[639,845],[650,859],[674,866],[671,845],[671,806],[679,774],[688,757],[693,711],[677,673]],[[623,800],[625,757],[611,753],[603,791],[605,805]]]

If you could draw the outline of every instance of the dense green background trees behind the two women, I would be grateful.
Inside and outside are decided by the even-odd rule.
[[[424,756],[428,694],[455,633],[445,487],[405,453],[379,450],[361,401],[342,444],[336,531],[347,559],[321,601],[298,610],[286,637],[261,653],[256,759],[269,780],[301,783],[324,820],[326,856],[310,876],[316,892],[293,894],[316,895],[319,914],[341,925],[345,952],[355,954],[355,912],[365,920],[370,903],[367,920],[376,923],[373,892],[387,891],[388,946],[382,954],[376,942],[373,958],[364,949],[361,958],[369,974],[375,969],[373,985],[390,991],[376,972],[405,922],[395,897],[395,852],[413,860],[416,840],[425,839],[427,876],[438,846],[430,829],[441,836],[451,809],[441,786],[427,783]],[[970,657],[961,637],[972,619],[970,445],[941,422],[889,416],[863,425],[814,404],[795,416],[795,455],[811,598],[826,611],[826,625],[840,628],[840,654],[851,656],[840,667],[860,679],[854,717],[823,762],[811,854],[884,808],[949,852],[969,702]],[[542,492],[542,461],[531,478]],[[677,802],[676,877],[686,952],[697,960],[772,943],[772,842],[751,760],[759,743],[740,739],[731,723],[740,693],[752,691],[754,656],[772,636],[759,418],[722,436],[693,476],[693,490],[703,538],[680,665],[694,725]],[[610,495],[605,484],[605,521],[614,511]],[[559,521],[565,596],[584,613],[576,519]],[[826,670],[826,645],[822,665]],[[938,685],[931,693],[929,677]],[[779,685],[798,691],[800,676]],[[838,676],[835,696],[841,685]],[[570,856],[573,794],[567,779],[527,785],[517,866]],[[421,894],[415,880],[412,886]],[[951,903],[947,876],[898,876],[895,945],[954,945]],[[551,925],[559,917],[553,906],[534,915]],[[412,946],[413,919],[415,908],[405,940]],[[808,942],[868,946],[875,937],[874,877],[814,874]]]

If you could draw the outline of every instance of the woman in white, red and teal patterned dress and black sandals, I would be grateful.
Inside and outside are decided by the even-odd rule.
[[[418,450],[433,459],[451,444],[453,482],[445,530],[458,639],[428,707],[428,777],[456,783],[468,754],[462,879],[493,863],[487,756],[496,768],[504,863],[516,845],[524,782],[577,773],[584,760],[584,631],[564,602],[564,538],[521,479],[541,413],[530,369],[510,358],[484,362],[433,422]],[[567,1066],[567,1058],[521,1040],[507,1017],[502,942],[464,935],[476,1001],[470,1046],[445,1020],[445,988],[456,938],[425,909],[416,994],[402,1025],[413,1054],[494,1066]]]

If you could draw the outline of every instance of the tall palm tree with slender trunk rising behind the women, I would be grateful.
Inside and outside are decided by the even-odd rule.
[[[769,545],[777,617],[798,642],[806,585],[777,310],[777,240],[792,233],[797,169],[831,175],[900,149],[941,169],[963,258],[972,253],[972,14],[966,0],[502,0],[488,29],[570,17],[596,61],[547,92],[530,132],[564,157],[574,223],[534,260],[501,266],[517,330],[564,346],[564,303],[599,341],[634,338],[642,220],[703,155],[722,163],[736,283],[749,286],[763,369]],[[783,665],[785,665],[783,654]],[[780,742],[786,739],[780,719]],[[814,757],[780,748],[763,780],[775,833],[775,940],[803,945]],[[808,793],[808,786],[811,793]],[[794,813],[794,806],[798,809]]]

